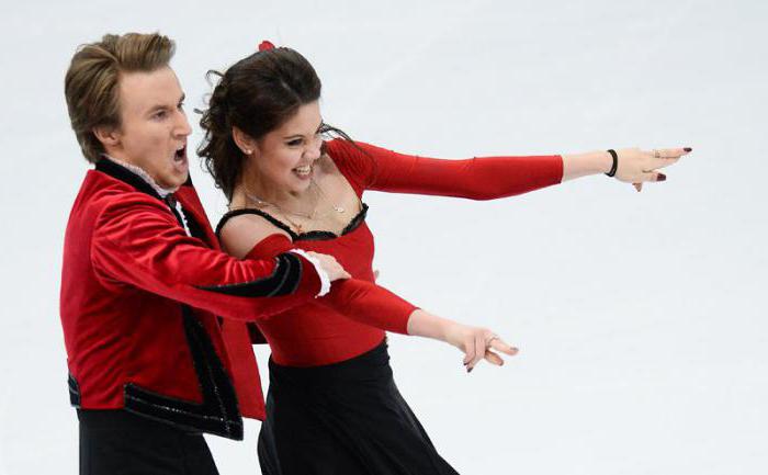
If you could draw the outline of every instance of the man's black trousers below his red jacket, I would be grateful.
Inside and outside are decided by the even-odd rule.
[[[124,410],[78,410],[80,475],[217,475],[200,432]]]

